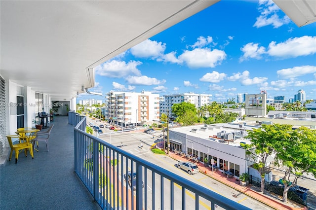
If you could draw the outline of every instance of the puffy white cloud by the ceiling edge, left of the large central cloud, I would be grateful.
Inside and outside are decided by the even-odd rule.
[[[152,41],[146,39],[145,41],[137,44],[136,46],[130,49],[130,52],[135,57],[139,58],[158,58],[163,55],[164,50],[166,49],[166,44],[160,41]]]

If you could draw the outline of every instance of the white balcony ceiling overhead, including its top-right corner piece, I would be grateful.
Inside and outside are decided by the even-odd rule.
[[[219,0],[0,1],[0,74],[52,97],[93,87],[90,68]],[[275,0],[300,27],[316,1]]]

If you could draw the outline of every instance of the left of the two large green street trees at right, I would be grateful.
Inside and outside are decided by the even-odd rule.
[[[249,155],[254,162],[254,168],[257,169],[261,175],[260,191],[263,193],[265,189],[265,174],[266,163],[268,156],[272,155],[278,143],[282,142],[288,132],[291,131],[291,125],[262,125],[261,128],[248,131],[248,136],[251,140],[250,145],[245,145],[247,149],[246,154]]]

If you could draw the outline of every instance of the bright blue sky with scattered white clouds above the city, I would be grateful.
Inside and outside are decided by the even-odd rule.
[[[298,28],[272,1],[222,0],[96,69],[110,91],[212,94],[212,101],[266,90],[268,98],[316,99],[316,23]],[[236,100],[235,100],[236,101]]]

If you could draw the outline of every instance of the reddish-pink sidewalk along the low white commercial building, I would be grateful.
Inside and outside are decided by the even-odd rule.
[[[189,161],[185,157],[180,157],[179,155],[174,154],[173,152],[169,152],[169,156],[177,161]],[[268,206],[274,208],[276,210],[307,210],[307,208],[303,205],[296,204],[288,200],[287,204],[283,204],[281,200],[277,197],[273,197],[272,195],[261,194],[259,191],[256,191],[256,187],[249,185],[248,187],[242,187],[239,185],[239,180],[235,177],[227,178],[226,175],[222,174],[220,171],[216,171],[212,173],[212,169],[209,167],[204,167],[204,164],[201,162],[197,163],[198,169],[200,173],[204,173],[205,175],[220,181],[223,184],[226,184],[235,190],[242,192]],[[259,189],[260,190],[260,189]]]

